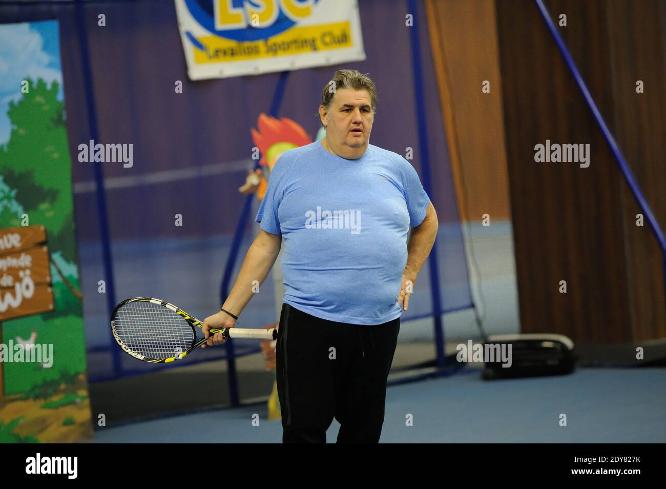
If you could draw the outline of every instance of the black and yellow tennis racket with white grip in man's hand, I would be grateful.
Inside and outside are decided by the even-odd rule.
[[[164,300],[148,297],[125,299],[111,313],[111,331],[123,350],[139,360],[168,363],[184,358],[206,341],[197,339],[194,326],[203,323]],[[224,338],[275,340],[272,329],[210,328]]]

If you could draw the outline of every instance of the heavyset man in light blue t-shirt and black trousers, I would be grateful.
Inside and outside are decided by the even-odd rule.
[[[277,384],[285,443],[325,443],[333,418],[338,443],[379,441],[400,314],[437,234],[414,167],[370,145],[376,107],[368,76],[336,71],[318,112],[326,137],[280,156],[256,215],[260,234],[222,308],[204,320],[207,345],[222,344],[208,329],[235,326],[284,238]]]

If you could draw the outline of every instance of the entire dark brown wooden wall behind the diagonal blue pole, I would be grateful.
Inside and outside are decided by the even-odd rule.
[[[637,72],[655,92],[663,89],[663,2],[551,0],[547,6],[556,21],[567,15],[567,26],[558,29],[666,223],[666,169],[656,158],[664,151],[664,94],[637,99],[629,90]],[[661,253],[647,226],[633,229],[627,185],[537,7],[531,0],[496,7],[523,331],[604,343],[666,336]],[[590,166],[535,163],[534,145],[547,139],[589,143]],[[566,294],[559,280],[567,281]]]

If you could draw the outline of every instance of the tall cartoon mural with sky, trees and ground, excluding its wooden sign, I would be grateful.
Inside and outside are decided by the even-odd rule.
[[[42,352],[41,358],[0,363],[0,443],[71,442],[93,434],[65,103],[58,100],[60,82],[26,77],[29,67],[42,66],[45,77],[61,79],[58,32],[57,21],[0,25],[0,37],[24,41],[0,49],[0,78],[8,81],[3,98],[11,100],[0,112],[3,137],[9,136],[0,144],[0,228],[45,227],[53,292],[50,312],[0,324],[0,342],[33,342],[31,351],[41,345]],[[9,292],[0,290],[0,299]]]

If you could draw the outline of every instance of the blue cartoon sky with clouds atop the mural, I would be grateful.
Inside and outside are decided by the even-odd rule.
[[[21,98],[26,77],[57,81],[63,100],[57,21],[0,24],[0,145],[9,141],[9,101]]]

